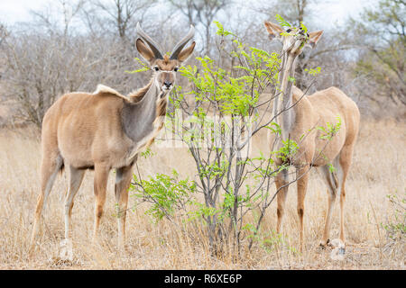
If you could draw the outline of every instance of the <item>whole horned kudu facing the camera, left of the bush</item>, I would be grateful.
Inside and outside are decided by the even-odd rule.
[[[44,202],[51,192],[55,176],[69,169],[69,190],[65,200],[65,238],[69,238],[73,199],[87,169],[94,169],[96,195],[93,239],[106,201],[109,171],[115,169],[118,246],[124,247],[125,211],[133,166],[142,148],[152,144],[163,126],[168,95],[175,84],[178,68],[195,48],[194,28],[180,40],[171,56],[161,53],[158,45],[137,24],[136,49],[152,67],[152,78],[143,88],[122,95],[98,85],[96,92],[64,94],[52,104],[42,123],[41,187],[32,229],[33,244],[39,229]]]

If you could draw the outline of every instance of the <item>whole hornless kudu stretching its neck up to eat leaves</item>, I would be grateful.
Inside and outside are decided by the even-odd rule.
[[[298,187],[298,214],[300,220],[300,251],[303,249],[303,215],[304,200],[309,182],[309,167],[318,166],[328,185],[328,211],[324,233],[320,245],[328,245],[331,223],[331,214],[337,193],[340,195],[340,239],[344,243],[344,201],[346,198],[346,176],[351,165],[355,140],[358,134],[360,113],[355,102],[352,101],[337,87],[318,91],[315,94],[304,95],[299,88],[293,85],[296,59],[304,46],[313,48],[320,39],[323,31],[307,33],[299,28],[290,28],[284,31],[281,26],[265,22],[270,39],[281,40],[282,59],[279,81],[280,91],[275,94],[273,113],[276,122],[281,127],[281,139],[291,139],[298,143],[298,151],[287,161],[296,166]],[[304,95],[304,96],[303,96]],[[282,101],[280,98],[282,97]],[[289,109],[291,107],[291,109]],[[281,112],[284,111],[284,112]],[[280,113],[281,112],[281,113]],[[279,113],[279,115],[278,115]],[[321,139],[317,127],[328,127],[328,123],[341,125],[337,134],[331,139]],[[281,141],[279,141],[281,147]],[[281,158],[276,164],[285,164]],[[335,167],[330,169],[330,165]],[[281,223],[284,214],[286,194],[289,180],[286,169],[276,177],[277,195],[277,233],[281,232]]]

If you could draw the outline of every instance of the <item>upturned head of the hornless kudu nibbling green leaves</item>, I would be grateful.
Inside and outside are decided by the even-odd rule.
[[[283,52],[288,56],[299,56],[305,47],[314,48],[323,34],[323,31],[307,33],[301,27],[290,27],[284,31],[278,24],[265,21],[265,28],[271,40],[280,40]]]

